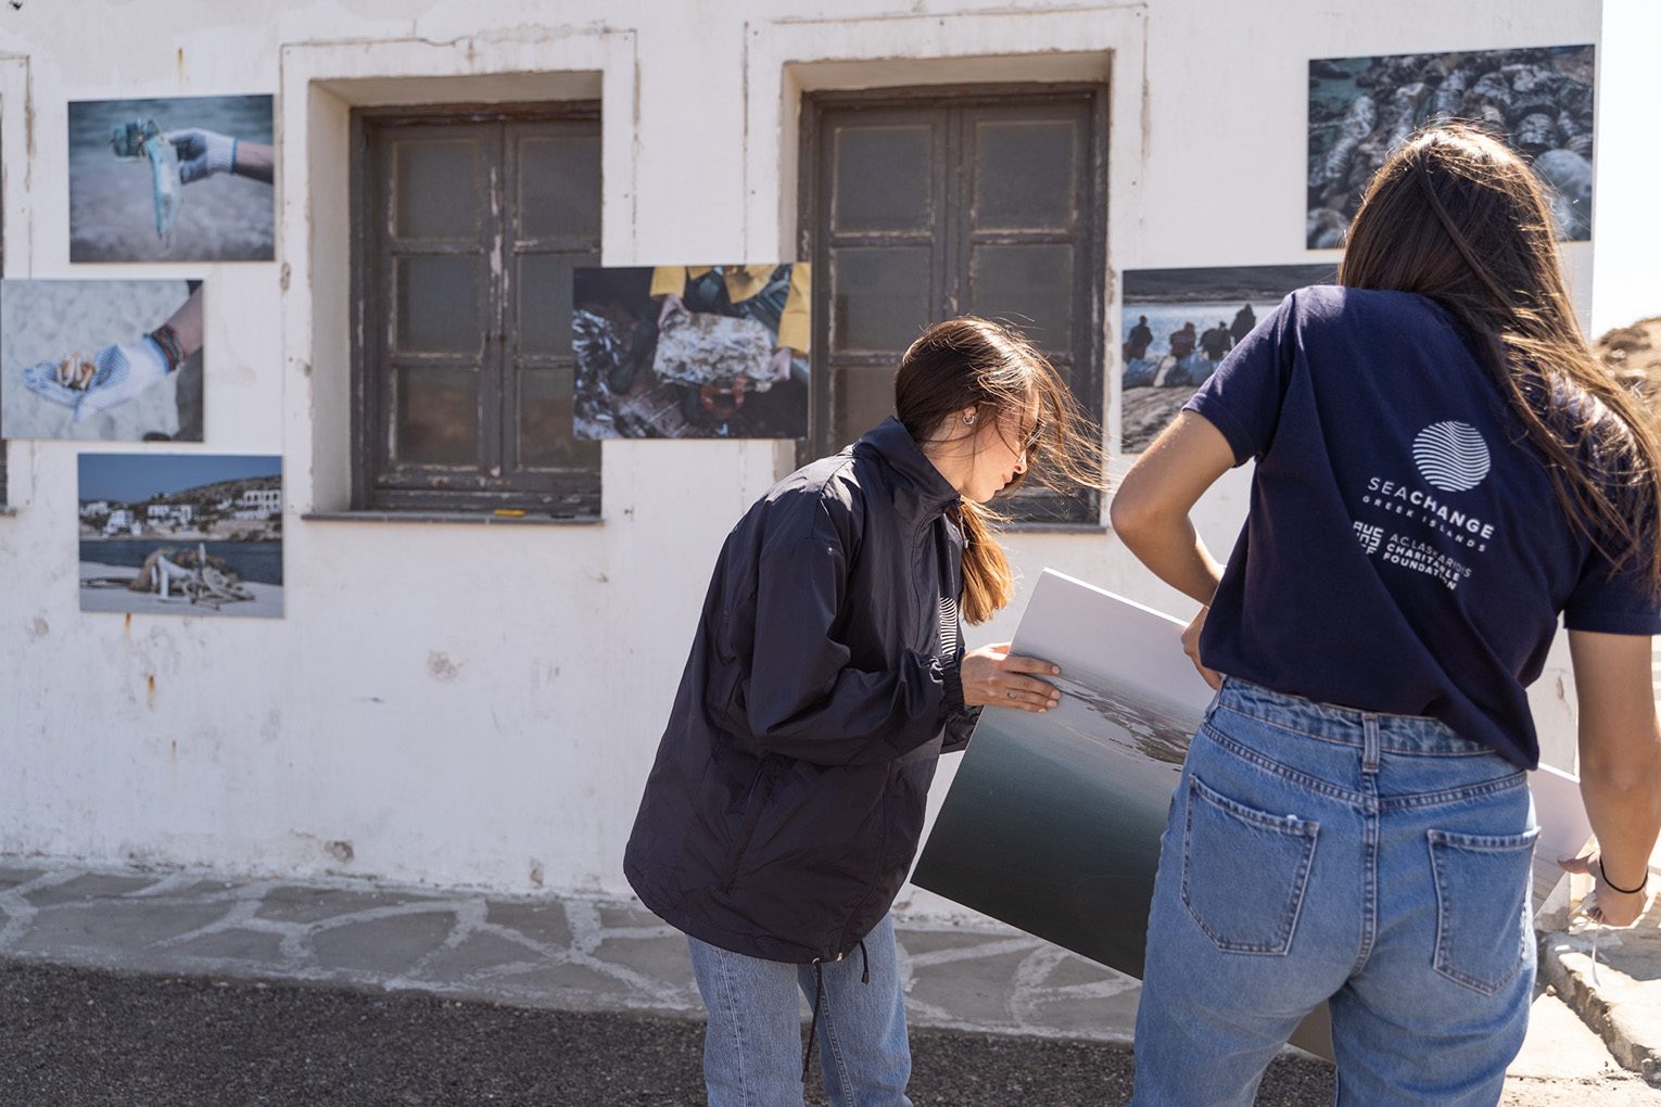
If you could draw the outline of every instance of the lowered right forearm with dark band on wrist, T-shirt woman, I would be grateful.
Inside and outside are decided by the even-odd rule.
[[[1580,704],[1580,793],[1598,835],[1598,860],[1576,858],[1565,868],[1591,873],[1596,881],[1588,906],[1593,918],[1629,926],[1648,901],[1649,851],[1661,833],[1653,639],[1570,631],[1568,646]]]

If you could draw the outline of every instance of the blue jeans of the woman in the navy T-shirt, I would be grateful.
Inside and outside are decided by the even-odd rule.
[[[1133,1105],[1251,1104],[1329,1001],[1335,1104],[1493,1107],[1536,835],[1525,775],[1443,724],[1227,677],[1159,840]]]

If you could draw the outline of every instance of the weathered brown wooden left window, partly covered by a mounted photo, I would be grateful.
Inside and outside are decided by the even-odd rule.
[[[352,506],[600,514],[571,435],[571,271],[600,106],[354,113]]]

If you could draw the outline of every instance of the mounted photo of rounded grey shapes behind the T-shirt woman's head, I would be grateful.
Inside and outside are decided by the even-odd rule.
[[[1427,123],[1475,123],[1546,188],[1560,239],[1591,237],[1593,48],[1533,46],[1309,63],[1309,249],[1342,246],[1367,181]]]

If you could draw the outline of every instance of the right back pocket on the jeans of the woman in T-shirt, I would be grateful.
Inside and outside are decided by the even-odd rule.
[[[1425,831],[1437,883],[1437,973],[1492,996],[1528,958],[1528,873],[1540,830],[1521,835]]]

